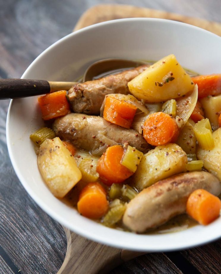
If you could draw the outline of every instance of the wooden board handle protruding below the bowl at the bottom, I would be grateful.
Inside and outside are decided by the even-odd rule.
[[[92,242],[64,227],[67,251],[57,274],[108,273],[119,264],[146,253],[122,250]]]

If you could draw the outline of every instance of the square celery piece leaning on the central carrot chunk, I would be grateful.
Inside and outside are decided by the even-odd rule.
[[[121,165],[124,165],[126,168],[130,169],[132,172],[137,170],[137,167],[141,161],[143,153],[136,148],[128,145],[127,150],[124,153],[124,156],[121,160]]]

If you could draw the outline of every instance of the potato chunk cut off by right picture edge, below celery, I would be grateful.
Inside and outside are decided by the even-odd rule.
[[[215,147],[211,150],[205,150],[199,145],[196,149],[196,156],[199,160],[203,160],[203,165],[212,174],[221,180],[221,128],[212,134]]]

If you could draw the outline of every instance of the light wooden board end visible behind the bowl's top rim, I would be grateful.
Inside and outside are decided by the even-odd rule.
[[[74,31],[108,20],[134,17],[164,18],[180,21],[197,27],[201,27],[205,30],[209,30],[221,36],[221,24],[217,22],[183,16],[180,14],[169,13],[161,10],[151,10],[147,8],[117,4],[104,4],[91,7],[80,17],[74,28]]]

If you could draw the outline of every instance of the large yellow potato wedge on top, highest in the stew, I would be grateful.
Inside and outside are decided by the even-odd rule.
[[[194,84],[171,54],[132,79],[128,87],[136,98],[152,103],[181,97],[192,91]]]

